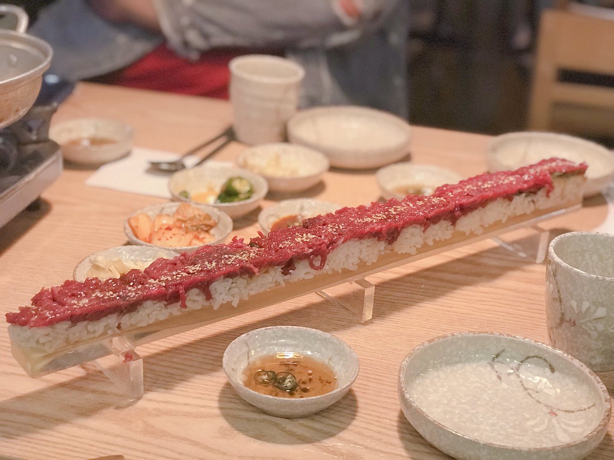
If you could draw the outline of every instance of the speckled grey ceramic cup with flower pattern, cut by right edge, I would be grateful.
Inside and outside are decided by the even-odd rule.
[[[614,369],[614,235],[571,232],[548,248],[546,318],[554,347]]]

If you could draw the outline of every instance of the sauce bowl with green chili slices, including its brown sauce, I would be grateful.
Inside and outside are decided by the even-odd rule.
[[[327,332],[299,326],[255,329],[222,359],[230,385],[270,415],[298,418],[339,401],[359,372],[356,352]]]

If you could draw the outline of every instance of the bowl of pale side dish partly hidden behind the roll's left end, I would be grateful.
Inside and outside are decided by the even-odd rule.
[[[115,260],[122,261],[126,266],[146,267],[155,259],[171,259],[176,255],[175,251],[150,246],[130,245],[108,248],[89,255],[80,261],[72,272],[72,278],[79,282],[85,281],[85,278],[88,278],[88,271],[96,264],[99,267],[100,274],[104,272],[104,275],[96,275],[96,277],[104,280],[112,277],[111,270],[106,270],[104,267]]]

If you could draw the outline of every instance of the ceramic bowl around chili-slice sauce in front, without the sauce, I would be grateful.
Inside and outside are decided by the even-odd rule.
[[[292,399],[258,393],[244,384],[244,371],[258,358],[276,353],[300,353],[333,370],[337,386],[321,396]],[[356,352],[335,336],[299,326],[272,326],[255,329],[233,340],[224,351],[222,367],[239,396],[270,415],[298,418],[312,415],[339,401],[356,380],[359,361]]]

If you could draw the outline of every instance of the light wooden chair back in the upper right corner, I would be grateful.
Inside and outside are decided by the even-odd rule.
[[[528,128],[614,137],[614,87],[562,82],[561,71],[614,80],[614,21],[569,10],[540,19]]]

